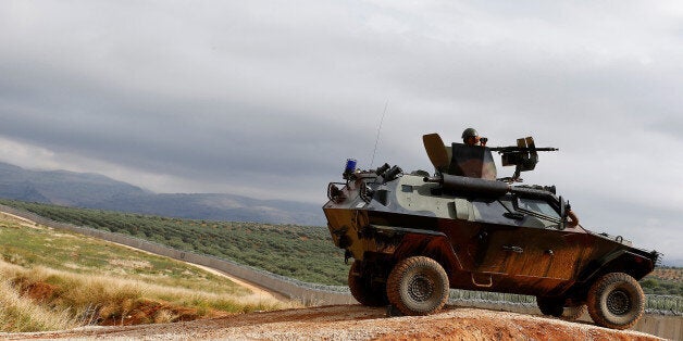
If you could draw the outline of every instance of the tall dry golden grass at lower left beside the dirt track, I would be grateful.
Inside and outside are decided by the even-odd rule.
[[[271,311],[293,304],[89,276],[0,261],[0,329],[39,331],[84,325],[135,325]]]

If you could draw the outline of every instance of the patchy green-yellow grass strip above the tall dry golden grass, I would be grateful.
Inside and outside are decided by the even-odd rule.
[[[7,220],[0,222],[0,255],[3,261],[23,267],[40,265],[76,274],[135,276],[148,282],[173,283],[188,289],[246,293],[231,281],[171,258],[95,238],[47,228],[18,227]]]

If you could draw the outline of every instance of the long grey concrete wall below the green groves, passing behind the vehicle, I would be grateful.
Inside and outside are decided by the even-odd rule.
[[[268,290],[278,292],[289,299],[300,301],[309,306],[331,304],[358,304],[358,302],[349,293],[348,288],[345,287],[306,283],[288,277],[278,276],[250,266],[237,264],[227,260],[220,260],[216,257],[200,255],[191,252],[179,251],[154,242],[137,239],[131,236],[53,222],[30,212],[21,211],[4,205],[0,205],[0,211],[21,216],[55,229],[69,230],[108,241],[113,241],[175,260],[203,265],[216,270],[224,271],[226,274],[229,274],[231,276],[244,279],[246,281],[257,283]],[[485,302],[480,300],[451,300],[450,303],[459,306],[472,306],[487,310],[517,312],[523,314],[541,314],[538,308],[533,303],[514,304],[509,302]],[[591,318],[587,316],[584,316],[582,319],[591,321]],[[638,324],[636,324],[635,327],[632,329],[670,340],[683,340],[683,317],[645,314],[643,318],[641,318]]]

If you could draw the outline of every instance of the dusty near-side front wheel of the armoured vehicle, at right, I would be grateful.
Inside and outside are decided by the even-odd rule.
[[[593,283],[586,304],[593,321],[621,330],[631,328],[643,316],[645,294],[633,277],[610,273]]]

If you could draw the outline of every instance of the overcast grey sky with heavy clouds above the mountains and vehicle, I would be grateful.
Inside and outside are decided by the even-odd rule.
[[[423,134],[533,136],[527,184],[683,258],[680,1],[2,1],[0,161],[316,202]],[[499,169],[509,175],[513,169]]]

